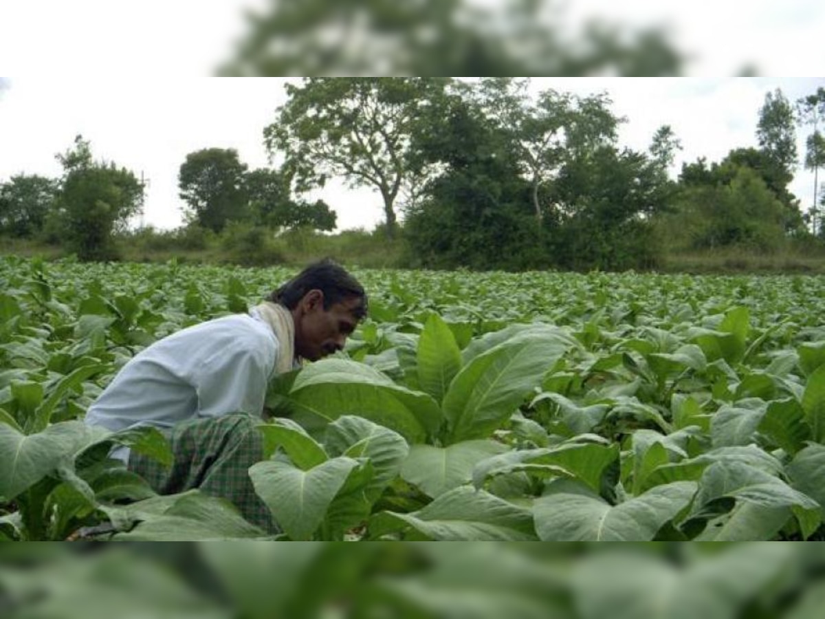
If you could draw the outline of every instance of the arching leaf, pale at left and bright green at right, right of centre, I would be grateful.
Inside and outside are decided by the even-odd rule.
[[[532,470],[542,474],[541,467],[550,467],[544,472],[573,476],[597,493],[601,489],[601,478],[605,470],[618,457],[618,445],[606,447],[593,443],[565,443],[558,447],[508,451],[479,462],[473,471],[473,483],[480,487],[486,480],[497,475],[516,471],[529,473]]]

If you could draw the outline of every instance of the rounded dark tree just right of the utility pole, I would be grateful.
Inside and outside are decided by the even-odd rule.
[[[244,189],[246,163],[235,149],[202,149],[186,155],[178,173],[181,200],[190,217],[204,228],[220,232],[227,222],[247,214]]]

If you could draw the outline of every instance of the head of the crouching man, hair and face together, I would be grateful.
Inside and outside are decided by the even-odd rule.
[[[367,308],[363,286],[331,260],[309,265],[268,300],[290,309],[295,352],[310,361],[341,350]]]

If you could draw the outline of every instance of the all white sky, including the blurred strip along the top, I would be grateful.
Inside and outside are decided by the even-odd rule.
[[[283,102],[281,78],[205,78],[229,59],[245,31],[241,8],[268,0],[5,0],[0,3],[0,182],[13,174],[57,176],[54,154],[74,135],[97,158],[144,172],[144,221],[181,222],[177,171],[196,149],[238,149],[250,168],[267,164],[264,126]],[[493,0],[473,0],[475,3]],[[781,87],[791,100],[825,86],[825,78],[738,78],[759,73],[825,73],[825,2],[815,0],[549,0],[568,23],[598,15],[631,26],[664,24],[691,54],[687,73],[703,78],[535,78],[536,88],[580,94],[607,90],[627,116],[621,143],[644,149],[670,124],[685,149],[677,159],[718,161],[731,148],[756,143],[765,93]],[[800,156],[804,138],[799,133]],[[807,208],[813,175],[791,187]],[[380,197],[332,187],[323,198],[339,228],[372,227]]]

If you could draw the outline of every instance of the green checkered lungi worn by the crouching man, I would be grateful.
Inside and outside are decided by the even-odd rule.
[[[266,532],[279,532],[269,508],[255,494],[248,469],[263,460],[259,420],[247,413],[192,419],[164,429],[175,460],[166,467],[134,451],[129,469],[159,494],[176,494],[193,488],[229,499],[244,518]]]

